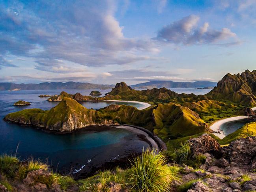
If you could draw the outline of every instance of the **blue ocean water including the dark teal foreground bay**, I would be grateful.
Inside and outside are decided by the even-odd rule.
[[[174,90],[174,89],[173,89]],[[58,102],[48,102],[47,97],[38,97],[41,94],[59,94],[61,91],[82,95],[89,95],[92,90],[20,90],[0,91],[0,154],[15,155],[28,159],[30,157],[48,162],[53,169],[62,170],[65,173],[76,171],[91,171],[95,167],[101,167],[105,162],[124,158],[127,154],[140,153],[149,144],[139,138],[136,133],[127,129],[110,128],[104,131],[94,132],[86,129],[67,134],[45,132],[32,127],[22,127],[15,123],[3,120],[4,116],[11,112],[27,108],[41,108],[49,110]],[[104,95],[110,90],[99,90]],[[203,89],[175,89],[175,91],[202,94]],[[29,101],[28,106],[13,106],[19,100]],[[120,102],[81,102],[86,108],[99,109],[109,104],[127,104],[137,108],[142,107],[138,103]]]

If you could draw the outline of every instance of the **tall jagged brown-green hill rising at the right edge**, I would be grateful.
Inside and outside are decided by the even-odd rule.
[[[245,106],[256,106],[256,70],[237,75],[228,73],[206,94],[212,99],[226,99]]]

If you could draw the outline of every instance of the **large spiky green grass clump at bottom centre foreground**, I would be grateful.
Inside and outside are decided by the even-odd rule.
[[[163,155],[147,149],[142,156],[133,159],[128,185],[138,192],[169,191],[173,176],[165,162]]]

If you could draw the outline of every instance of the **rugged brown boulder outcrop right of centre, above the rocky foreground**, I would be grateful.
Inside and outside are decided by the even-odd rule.
[[[213,139],[209,134],[203,134],[198,138],[193,138],[189,140],[191,144],[192,155],[211,153],[213,155],[218,155],[220,151],[220,144]]]

